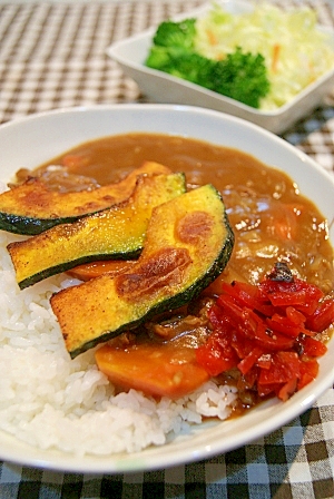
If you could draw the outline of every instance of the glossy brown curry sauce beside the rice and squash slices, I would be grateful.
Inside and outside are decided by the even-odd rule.
[[[146,160],[161,163],[173,172],[184,172],[189,189],[212,183],[222,193],[235,233],[235,247],[224,280],[255,284],[276,262],[285,262],[296,275],[325,293],[332,292],[333,250],[326,219],[287,175],[243,151],[186,137],[134,133],[79,145],[49,160],[37,173],[45,173],[49,165],[66,165],[63,182],[59,169],[56,169],[56,177],[50,175],[51,187],[71,190],[89,185],[94,188],[119,182]],[[22,177],[24,175],[23,172]],[[186,345],[187,341],[196,343],[198,336],[199,341],[205,341],[209,325],[204,312],[218,290],[219,278],[206,290],[203,303],[174,312],[166,322],[166,317],[159,317],[160,323],[146,326],[146,334],[157,342],[168,341],[168,335],[173,341],[179,336],[176,344],[180,345]],[[115,340],[117,344],[128,341],[135,341],[131,334]],[[256,394],[240,384],[237,372],[222,375],[220,381],[239,389],[240,399],[234,415],[258,402]]]

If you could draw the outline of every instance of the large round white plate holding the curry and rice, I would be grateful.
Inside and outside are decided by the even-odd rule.
[[[169,105],[115,105],[73,108],[32,115],[0,127],[1,179],[20,167],[35,167],[88,139],[129,131],[194,137],[234,147],[281,168],[298,184],[320,211],[334,219],[334,180],[311,158],[286,141],[248,121],[209,109]],[[331,226],[334,245],[334,227]],[[207,459],[244,446],[287,423],[334,382],[334,339],[320,360],[317,379],[282,403],[272,400],[245,415],[203,424],[189,437],[136,454],[97,458],[41,451],[0,432],[0,459],[22,464],[77,472],[126,472],[166,468]]]

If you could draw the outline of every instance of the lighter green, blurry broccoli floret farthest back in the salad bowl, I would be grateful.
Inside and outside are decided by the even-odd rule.
[[[185,19],[180,22],[164,21],[158,26],[154,43],[160,47],[180,47],[191,50],[196,35],[196,19]]]

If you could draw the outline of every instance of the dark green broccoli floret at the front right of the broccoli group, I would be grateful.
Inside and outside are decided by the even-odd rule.
[[[218,61],[209,75],[212,90],[258,108],[261,98],[269,91],[265,59],[261,53],[243,52],[237,48]]]

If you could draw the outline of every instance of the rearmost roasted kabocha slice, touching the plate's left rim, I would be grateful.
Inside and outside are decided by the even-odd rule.
[[[139,175],[168,173],[171,172],[166,166],[146,162],[117,184],[67,193],[50,190],[39,177],[30,178],[0,195],[0,229],[40,234],[55,225],[72,223],[124,202],[134,192]]]

